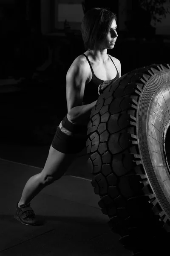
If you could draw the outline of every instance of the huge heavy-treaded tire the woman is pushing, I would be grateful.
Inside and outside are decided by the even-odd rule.
[[[162,252],[168,239],[169,125],[169,64],[125,74],[91,111],[86,146],[92,186],[109,225],[134,255]]]

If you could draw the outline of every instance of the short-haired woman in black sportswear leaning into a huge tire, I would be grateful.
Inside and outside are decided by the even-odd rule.
[[[98,94],[121,76],[120,61],[107,55],[116,39],[116,15],[104,8],[89,10],[82,20],[86,52],[71,64],[66,75],[68,113],[57,127],[42,172],[31,177],[17,203],[15,218],[23,224],[37,224],[30,201],[45,186],[58,180],[85,147],[87,124]]]

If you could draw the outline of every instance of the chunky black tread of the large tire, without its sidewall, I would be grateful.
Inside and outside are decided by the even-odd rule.
[[[145,146],[139,147],[140,99],[146,83],[162,71],[170,72],[170,65],[153,64],[122,76],[99,96],[88,123],[89,168],[94,192],[101,198],[99,206],[109,216],[111,229],[136,256],[155,244],[153,237],[161,237],[163,226],[170,232],[170,220],[143,166]]]

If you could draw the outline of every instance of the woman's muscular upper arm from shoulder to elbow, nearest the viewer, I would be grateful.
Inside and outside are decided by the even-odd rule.
[[[85,63],[83,61],[79,61],[71,65],[66,75],[66,99],[68,113],[71,108],[82,105],[87,79],[87,69],[85,68]]]

